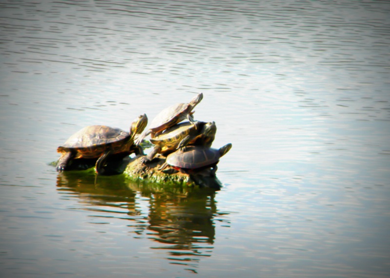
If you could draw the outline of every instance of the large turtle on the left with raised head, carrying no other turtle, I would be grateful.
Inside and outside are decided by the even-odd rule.
[[[124,153],[143,154],[141,146],[134,143],[137,134],[141,133],[148,124],[146,114],[139,115],[132,123],[130,132],[108,126],[87,126],[57,148],[61,156],[57,162],[57,170],[71,169],[75,159],[97,159],[96,165],[108,155]],[[97,169],[98,172],[98,169]]]

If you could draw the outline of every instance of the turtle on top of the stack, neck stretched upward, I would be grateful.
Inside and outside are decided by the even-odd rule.
[[[177,123],[180,123],[184,119],[188,119],[194,123],[194,117],[192,114],[195,112],[193,109],[202,100],[203,93],[196,95],[189,103],[176,103],[161,112],[159,112],[150,124],[150,128],[142,132],[136,140],[136,144],[139,145],[143,138],[151,134],[151,138],[160,134],[163,130],[173,127]]]

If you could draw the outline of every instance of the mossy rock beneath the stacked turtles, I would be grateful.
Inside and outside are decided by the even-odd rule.
[[[199,173],[186,174],[178,171],[165,173],[158,170],[164,162],[163,156],[158,156],[149,163],[142,163],[142,157],[132,159],[126,167],[125,173],[134,181],[143,181],[143,183],[161,184],[165,187],[172,185],[209,187],[215,190],[221,188],[221,182],[212,174],[210,168],[204,169]]]

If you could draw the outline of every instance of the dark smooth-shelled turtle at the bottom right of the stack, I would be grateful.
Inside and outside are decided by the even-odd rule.
[[[188,146],[185,150],[178,149],[167,156],[160,170],[170,165],[181,172],[193,173],[211,167],[213,168],[212,174],[215,175],[219,158],[227,153],[230,148],[232,148],[231,143],[219,149],[203,146]]]

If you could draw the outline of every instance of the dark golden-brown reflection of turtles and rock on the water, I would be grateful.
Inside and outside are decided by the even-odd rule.
[[[81,209],[131,221],[134,238],[152,240],[151,249],[166,250],[170,263],[195,273],[200,258],[212,255],[215,217],[226,219],[217,210],[215,191],[207,188],[138,185],[124,175],[96,176],[93,170],[61,172],[57,186],[63,198],[77,197]]]

